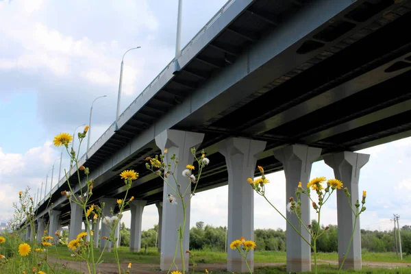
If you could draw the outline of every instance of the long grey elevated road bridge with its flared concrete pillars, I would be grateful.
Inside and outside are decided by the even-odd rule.
[[[136,199],[130,251],[140,250],[142,210],[154,203],[160,239],[175,242],[181,216],[166,203],[170,190],[147,171],[145,158],[167,148],[185,166],[192,164],[190,147],[210,159],[197,191],[229,186],[229,242],[253,238],[253,190],[246,179],[260,175],[257,165],[266,173],[284,169],[288,199],[298,182],[308,181],[312,162],[325,160],[355,201],[369,155],[353,151],[411,136],[410,11],[407,0],[228,1],[81,158],[95,180],[92,203],[118,210],[115,201],[126,190],[119,173],[134,169],[140,177],[129,190]],[[79,191],[74,171],[69,182]],[[70,225],[70,238],[81,230],[84,216],[63,190],[67,182],[60,179],[40,201],[38,233],[43,217],[51,235],[60,225]],[[310,204],[302,202],[303,221],[310,223]],[[353,230],[344,193],[337,208],[338,223],[345,223],[338,227],[342,260]],[[361,268],[359,228],[347,268]],[[102,226],[100,236],[106,233]],[[160,246],[160,268],[168,269],[175,246],[164,240]],[[287,270],[310,270],[310,248],[289,225],[286,246]],[[253,266],[252,253],[249,259]],[[245,270],[229,250],[227,271]]]

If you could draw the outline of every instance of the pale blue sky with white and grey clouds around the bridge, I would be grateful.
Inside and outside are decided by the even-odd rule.
[[[184,1],[183,46],[224,3]],[[114,121],[121,56],[127,49],[142,47],[125,58],[121,111],[170,62],[176,14],[177,0],[0,1],[0,222],[10,218],[18,190],[29,186],[34,194],[47,172],[51,175],[53,162],[58,166],[53,136],[88,123],[93,99],[107,95],[95,103],[91,142]],[[362,153],[371,154],[360,177],[360,190],[369,197],[362,228],[390,229],[393,213],[400,214],[401,225],[411,225],[411,138]],[[68,166],[66,155],[62,166]],[[320,175],[334,177],[322,161],[312,167],[312,177]],[[269,177],[269,197],[284,212],[284,173]],[[324,223],[335,224],[335,197],[328,204]],[[129,214],[124,221],[129,226]],[[157,221],[155,206],[145,208],[143,229]],[[191,225],[197,221],[227,224],[227,186],[195,196]],[[285,227],[258,196],[255,227]]]

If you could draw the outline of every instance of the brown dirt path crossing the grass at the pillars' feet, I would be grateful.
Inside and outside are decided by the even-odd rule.
[[[86,263],[82,263],[80,268],[79,262],[73,262],[69,260],[59,260],[60,264],[64,264],[70,269],[74,269],[76,271],[80,271],[82,269],[83,273],[88,273],[86,271],[87,266]],[[337,261],[332,260],[319,260],[320,264],[338,264]],[[256,263],[254,267],[262,267],[262,266],[281,266],[284,265],[284,262],[271,262],[271,263]],[[368,266],[373,268],[385,268],[385,269],[394,269],[396,267],[411,267],[410,263],[401,263],[401,262],[362,262],[362,266]],[[122,266],[122,269],[126,269],[127,264]],[[208,271],[214,272],[222,272],[226,271],[227,264],[225,263],[216,263],[216,264],[198,264],[196,269],[199,271],[203,271],[207,269]],[[191,269],[191,268],[190,268]],[[99,272],[100,271],[100,272]],[[119,273],[117,269],[117,265],[114,263],[102,263],[97,266],[97,273],[101,274],[116,274]],[[133,264],[132,271],[130,273],[135,274],[152,274],[152,273],[166,273],[166,271],[160,271],[158,264]]]

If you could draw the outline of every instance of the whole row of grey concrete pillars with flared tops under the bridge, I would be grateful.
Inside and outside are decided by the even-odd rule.
[[[179,159],[179,166],[175,175],[183,190],[189,184],[189,180],[182,175],[182,171],[187,164],[192,164],[194,157],[190,152],[192,147],[198,148],[203,140],[203,134],[192,132],[181,132],[177,130],[166,130],[155,137],[156,145],[164,152],[168,149],[164,161],[166,164],[170,162],[170,155],[175,153]],[[245,237],[253,240],[253,189],[246,184],[247,178],[254,177],[256,170],[256,162],[258,154],[264,151],[266,142],[258,140],[249,140],[245,138],[230,138],[221,143],[219,151],[225,156],[228,172],[228,226],[227,226],[227,241]],[[312,163],[318,160],[321,155],[321,149],[308,147],[306,145],[290,145],[283,149],[274,151],[274,156],[282,162],[284,173],[286,175],[286,201],[289,197],[295,196],[295,188],[298,182],[309,182]],[[369,155],[341,152],[332,155],[326,155],[325,163],[334,169],[336,179],[343,181],[345,187],[351,192],[351,202],[355,203],[359,197],[358,180],[360,169],[369,160]],[[174,182],[170,182],[174,184]],[[159,214],[159,235],[158,235],[158,250],[160,252],[160,269],[168,270],[174,258],[175,243],[177,241],[177,229],[183,223],[181,205],[170,203],[167,199],[169,193],[175,195],[173,190],[164,182],[163,201],[156,203]],[[110,208],[114,209],[116,199],[101,198],[100,202],[105,203],[104,214],[110,216]],[[140,251],[141,246],[141,225],[142,212],[147,201],[132,201],[130,209],[132,213],[131,235],[129,250],[132,252]],[[188,203],[186,197],[185,203]],[[303,224],[310,223],[310,201],[305,195],[301,196],[302,203],[302,221]],[[71,230],[70,238],[75,238],[81,231],[82,212],[78,210],[76,204],[71,203]],[[353,227],[353,214],[349,208],[347,197],[343,191],[337,192],[337,210],[338,223],[344,224],[338,227],[338,254],[339,260],[343,259],[343,253],[347,249],[347,242]],[[299,226],[297,217],[289,212],[286,213],[287,218],[295,226]],[[186,227],[184,227],[184,247],[188,249],[190,237],[190,206],[186,208]],[[41,225],[41,224],[40,224]],[[120,225],[119,225],[120,226]],[[163,229],[166,227],[166,229]],[[98,237],[100,237],[100,249],[103,249],[106,240],[103,236],[109,236],[110,230],[106,225],[101,224],[101,235],[98,233],[98,225],[94,225],[95,230],[95,246],[97,246]],[[117,230],[117,229],[116,229]],[[308,232],[302,227],[300,230],[305,238],[310,239]],[[96,233],[97,231],[97,233]],[[99,236],[98,236],[99,235]],[[119,230],[116,231],[116,237],[119,238]],[[162,239],[166,238],[167,241]],[[311,270],[311,250],[310,247],[301,240],[297,233],[287,223],[286,229],[286,247],[287,247],[287,271],[300,272]],[[107,245],[105,251],[111,251],[111,245]],[[188,253],[184,253],[186,269],[188,269]],[[248,262],[253,270],[253,252],[248,256]],[[177,254],[175,263],[181,269],[182,258]],[[358,221],[356,232],[353,238],[353,245],[347,254],[345,268],[360,269],[361,268],[361,241],[360,241],[360,223]],[[245,272],[247,266],[238,252],[229,249],[227,251],[227,271],[230,272]]]

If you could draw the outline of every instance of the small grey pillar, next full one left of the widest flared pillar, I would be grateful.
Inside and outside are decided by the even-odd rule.
[[[138,252],[141,247],[141,217],[147,201],[134,200],[130,202],[132,223],[130,225],[130,252]]]

